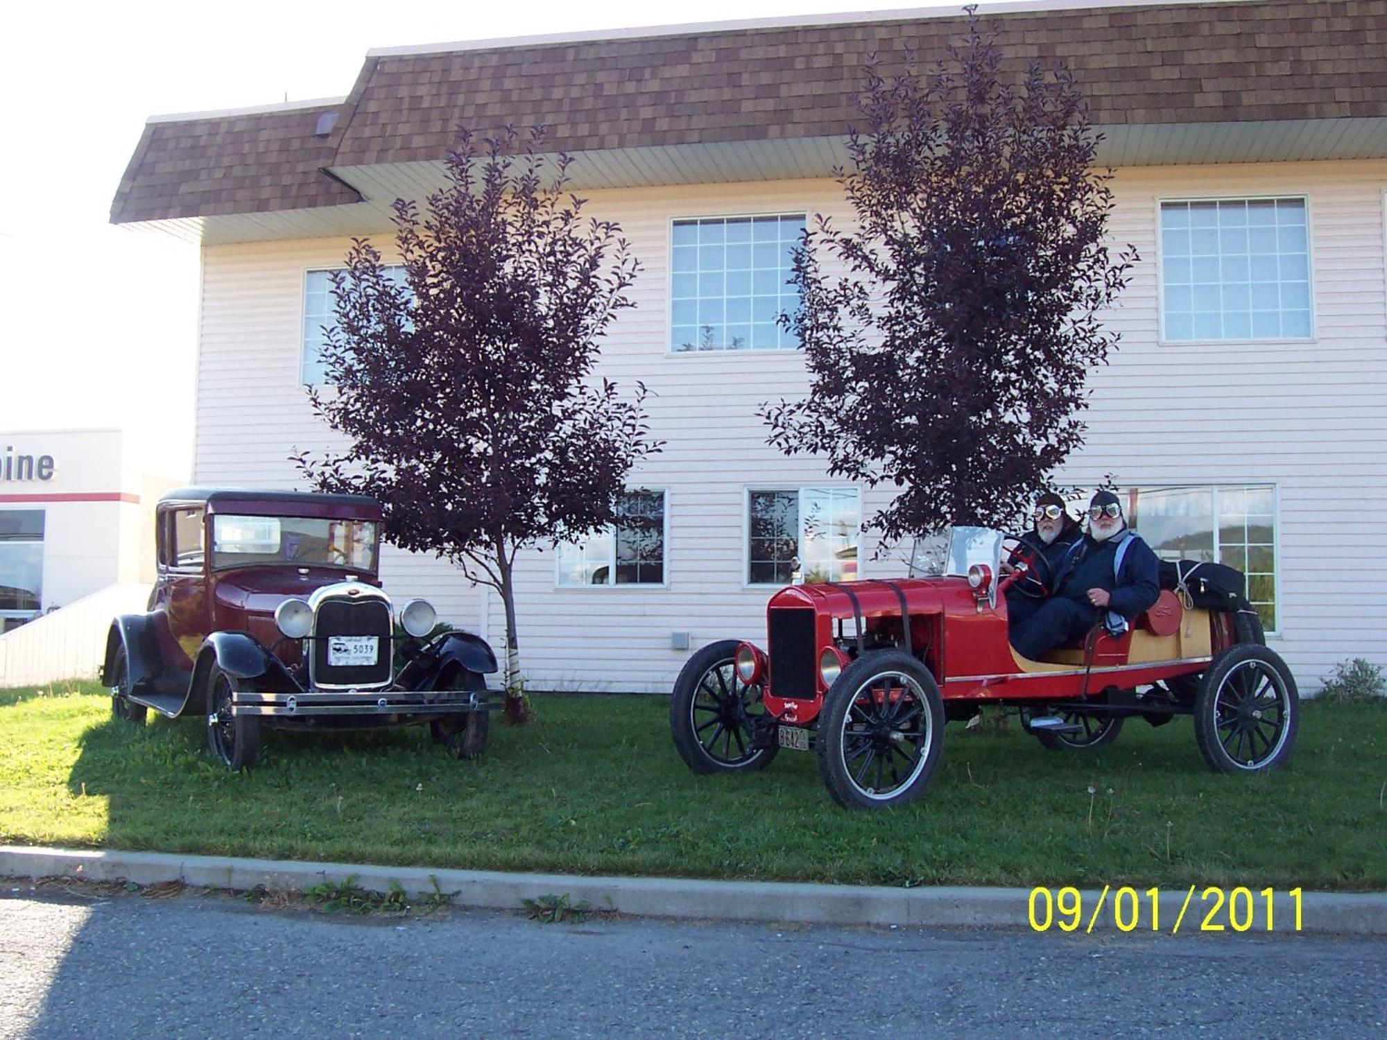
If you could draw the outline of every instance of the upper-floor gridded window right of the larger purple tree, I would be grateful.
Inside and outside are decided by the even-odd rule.
[[[1311,336],[1305,200],[1161,204],[1165,338]]]

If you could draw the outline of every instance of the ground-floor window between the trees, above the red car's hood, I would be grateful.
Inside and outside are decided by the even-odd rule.
[[[860,528],[857,488],[748,489],[746,584],[852,581]]]

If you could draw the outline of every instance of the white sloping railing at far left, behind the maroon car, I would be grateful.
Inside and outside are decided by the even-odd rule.
[[[0,635],[0,689],[60,679],[93,679],[117,614],[141,614],[150,587],[107,585]]]

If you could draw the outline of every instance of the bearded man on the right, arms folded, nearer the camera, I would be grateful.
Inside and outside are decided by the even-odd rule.
[[[1037,660],[1082,639],[1099,621],[1118,635],[1161,595],[1161,566],[1151,548],[1128,530],[1122,502],[1099,491],[1089,502],[1089,531],[1065,553],[1054,593],[1021,624],[1010,625],[1017,653]]]

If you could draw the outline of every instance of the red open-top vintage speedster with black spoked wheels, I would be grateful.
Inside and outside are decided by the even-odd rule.
[[[960,527],[936,577],[781,589],[766,610],[766,650],[724,639],[680,673],[670,699],[680,756],[695,772],[749,771],[781,747],[813,749],[838,803],[882,808],[925,789],[946,721],[1004,704],[1047,747],[1110,743],[1133,716],[1161,725],[1190,714],[1214,770],[1286,761],[1295,681],[1246,600],[1198,609],[1187,588],[1162,589],[1126,632],[1100,625],[1082,645],[1026,660],[1007,638],[1003,593],[1036,574],[1019,560],[1003,577],[1004,542]]]

